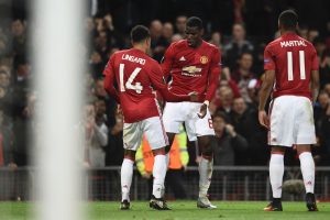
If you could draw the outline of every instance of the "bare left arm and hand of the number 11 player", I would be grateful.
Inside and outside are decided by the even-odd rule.
[[[260,90],[260,105],[258,105],[258,122],[261,125],[270,129],[270,119],[265,111],[266,101],[273,89],[275,81],[275,70],[266,70],[265,78],[263,80],[261,90]]]

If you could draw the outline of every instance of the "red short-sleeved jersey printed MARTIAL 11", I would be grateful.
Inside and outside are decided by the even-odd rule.
[[[283,95],[311,98],[310,73],[319,69],[319,63],[310,42],[287,33],[266,46],[264,69],[276,74],[273,98]]]

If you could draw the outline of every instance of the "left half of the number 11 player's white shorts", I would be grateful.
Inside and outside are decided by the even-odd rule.
[[[292,96],[275,98],[270,107],[268,144],[272,146],[293,146],[295,107]]]

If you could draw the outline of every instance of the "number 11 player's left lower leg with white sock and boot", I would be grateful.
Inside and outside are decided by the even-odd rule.
[[[272,146],[270,160],[270,180],[272,185],[273,201],[264,208],[265,211],[282,211],[282,184],[284,174],[284,146]]]

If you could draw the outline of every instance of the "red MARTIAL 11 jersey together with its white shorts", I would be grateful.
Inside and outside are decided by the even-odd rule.
[[[270,107],[270,145],[316,143],[309,82],[311,70],[318,68],[312,44],[294,33],[287,33],[266,46],[264,69],[276,74]]]

